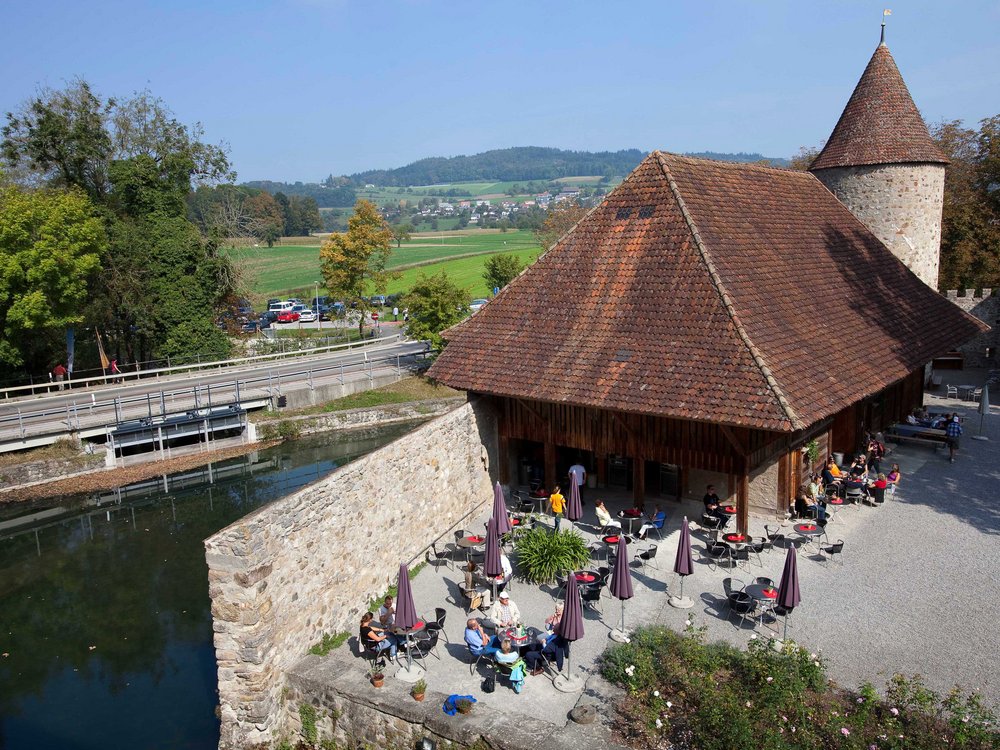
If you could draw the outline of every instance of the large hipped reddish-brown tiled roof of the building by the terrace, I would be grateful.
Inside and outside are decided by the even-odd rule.
[[[792,431],[982,328],[811,174],[654,152],[452,328],[430,375]]]

